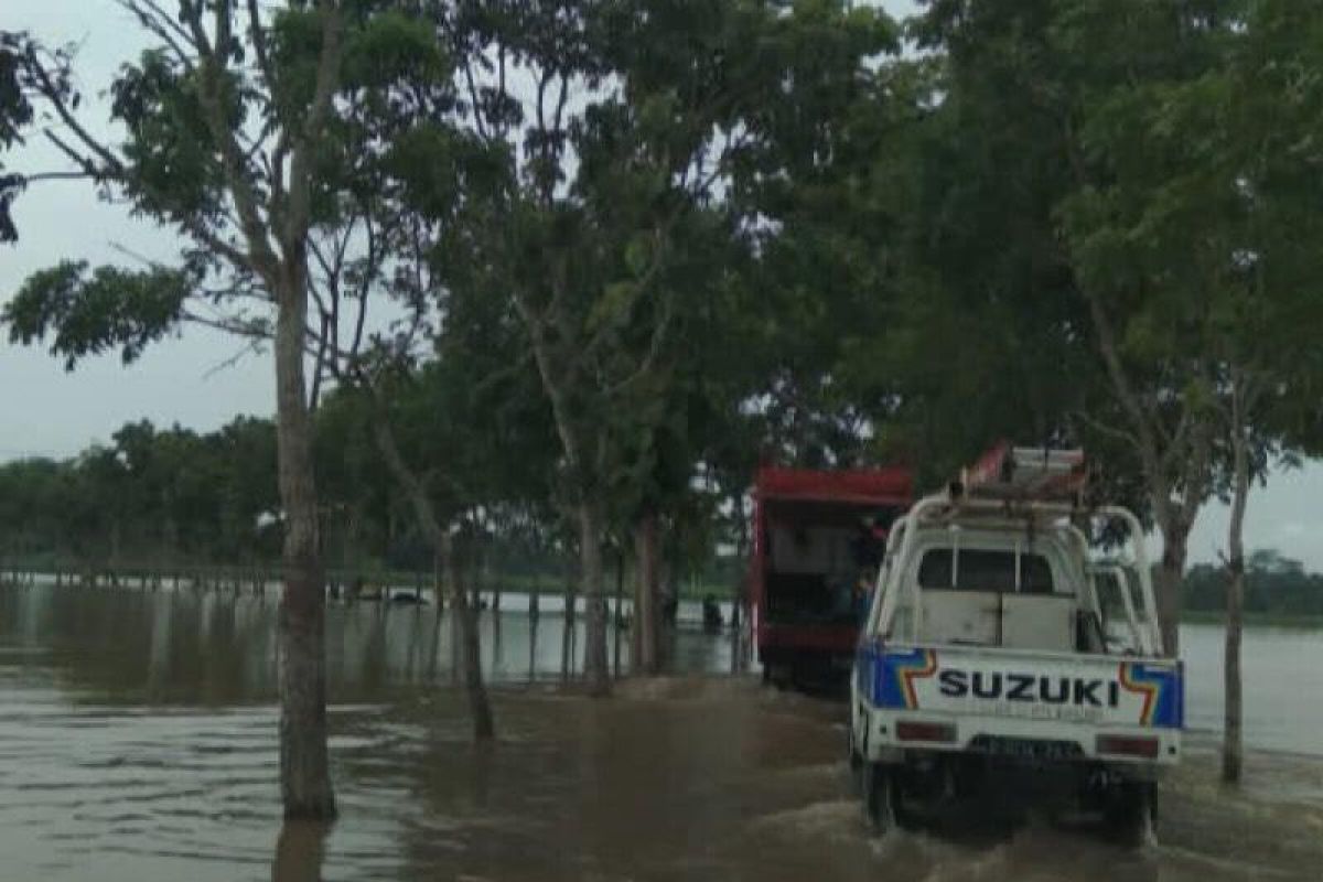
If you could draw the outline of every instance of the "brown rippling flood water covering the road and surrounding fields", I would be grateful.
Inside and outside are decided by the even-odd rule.
[[[558,615],[534,643],[527,614],[496,640],[488,612],[500,742],[478,750],[448,621],[381,604],[328,612],[341,817],[282,826],[274,621],[274,596],[0,587],[0,879],[1323,879],[1319,631],[1246,632],[1250,755],[1229,793],[1221,632],[1184,629],[1196,731],[1160,845],[1132,850],[979,804],[869,837],[843,706],[730,677],[730,637],[697,627],[676,676],[591,701],[557,682]]]

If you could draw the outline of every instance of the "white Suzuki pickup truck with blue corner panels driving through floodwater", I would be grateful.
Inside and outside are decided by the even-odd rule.
[[[1011,768],[1049,772],[1152,840],[1158,772],[1180,756],[1181,666],[1162,656],[1140,525],[1085,512],[1082,468],[1077,452],[1003,447],[897,521],[851,682],[875,828]],[[1125,562],[1094,559],[1103,536],[1123,537]]]

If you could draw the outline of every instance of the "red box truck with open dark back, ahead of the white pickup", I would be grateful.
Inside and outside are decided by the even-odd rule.
[[[765,681],[845,682],[886,530],[913,492],[901,467],[758,469],[749,603]]]

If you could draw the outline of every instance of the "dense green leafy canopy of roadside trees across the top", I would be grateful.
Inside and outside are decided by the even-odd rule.
[[[382,415],[442,513],[544,547],[589,496],[618,542],[662,512],[710,546],[761,456],[901,459],[930,483],[998,438],[1084,443],[1140,508],[1156,468],[1197,509],[1226,489],[1208,427],[1246,374],[1258,471],[1323,448],[1314,4],[931,0],[904,58],[893,21],[833,0],[343,11],[307,151],[314,291],[340,298],[328,323],[378,294],[406,316],[335,365],[319,418],[349,546],[417,540],[374,452]],[[265,60],[232,34],[221,69],[157,48],[120,70],[127,171],[107,180],[200,247],[179,271],[37,274],[12,340],[130,360],[204,282],[224,276],[222,301],[270,286],[286,157],[238,160],[254,234],[230,218],[217,115],[265,144],[298,134],[321,15],[277,11]],[[25,45],[0,37],[0,145],[30,119]],[[235,243],[249,263],[218,271]],[[169,485],[180,513],[200,493]]]

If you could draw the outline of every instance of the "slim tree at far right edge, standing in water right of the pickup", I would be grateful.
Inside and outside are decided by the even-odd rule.
[[[1195,132],[1222,189],[1236,194],[1233,283],[1220,304],[1224,362],[1222,434],[1229,447],[1232,517],[1225,554],[1226,652],[1222,780],[1238,783],[1241,739],[1241,618],[1245,606],[1244,522],[1250,484],[1266,460],[1287,451],[1316,452],[1320,435],[1314,390],[1323,223],[1316,214],[1316,167],[1310,145],[1323,122],[1323,87],[1299,71],[1323,61],[1323,16],[1299,4],[1253,4],[1233,22],[1221,78],[1200,90],[1207,120]]]

